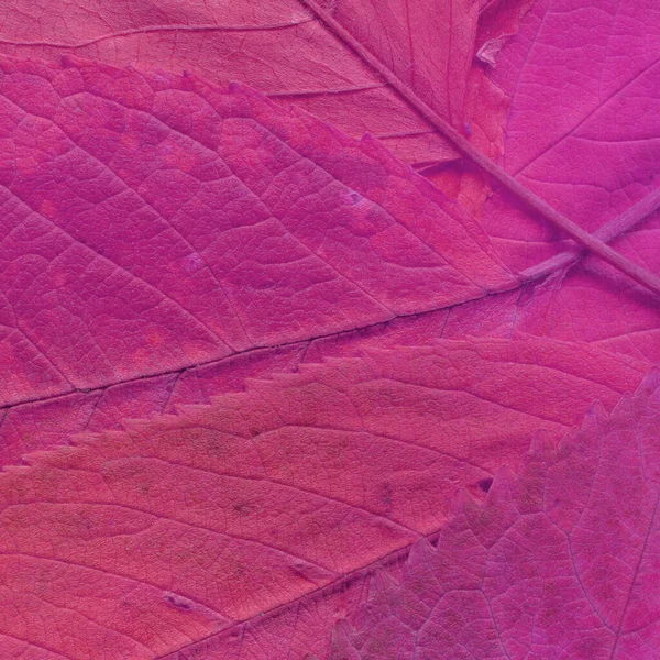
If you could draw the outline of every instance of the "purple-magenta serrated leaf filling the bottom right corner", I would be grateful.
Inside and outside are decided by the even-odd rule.
[[[461,497],[403,575],[338,624],[332,660],[654,660],[660,645],[660,378],[557,449],[537,438],[483,505]]]

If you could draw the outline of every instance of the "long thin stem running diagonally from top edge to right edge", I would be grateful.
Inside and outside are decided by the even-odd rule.
[[[524,201],[531,210],[539,213],[548,222],[558,227],[576,243],[586,248],[603,261],[618,268],[635,282],[660,295],[660,277],[613,250],[598,237],[582,229],[579,224],[553,209],[547,201],[526,188],[512,175],[505,172],[487,156],[476,150],[457,129],[444,121],[435,110],[425,103],[403,80],[387,68],[377,57],[365,48],[341,23],[339,23],[316,0],[300,0],[316,16],[331,30],[334,35],[359,55],[366,64],[376,70],[421,117],[432,124],[449,142],[451,142],[463,155],[468,156],[479,167],[491,175],[518,199]]]

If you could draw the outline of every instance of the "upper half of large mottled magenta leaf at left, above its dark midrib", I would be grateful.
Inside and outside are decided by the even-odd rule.
[[[6,405],[515,285],[381,145],[256,92],[70,61],[0,92]]]

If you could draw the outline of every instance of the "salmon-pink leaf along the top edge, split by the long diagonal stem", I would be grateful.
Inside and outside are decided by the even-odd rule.
[[[485,41],[515,31],[521,9],[519,2],[510,4],[513,11],[490,7],[480,26],[475,0],[323,3],[459,127],[466,120],[474,52]],[[0,47],[10,55],[58,59],[69,53],[122,67],[139,63],[143,69],[190,70],[222,84],[239,80],[295,102],[350,134],[369,131],[409,163],[457,157],[444,139],[299,0],[155,0],[136,7],[128,0],[76,7],[57,0],[38,11],[32,0],[18,0],[0,9]]]

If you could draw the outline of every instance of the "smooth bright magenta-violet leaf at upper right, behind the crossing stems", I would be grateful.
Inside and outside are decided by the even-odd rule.
[[[492,76],[510,98],[502,163],[553,207],[658,273],[657,7],[565,9],[535,3],[497,57]],[[505,261],[530,274],[547,274],[539,262],[566,250],[552,227],[502,190],[487,201],[483,226]],[[656,299],[597,260],[586,258],[518,300],[503,296],[498,311],[492,307],[509,320],[501,326],[505,332],[588,341],[650,363],[660,359]]]

